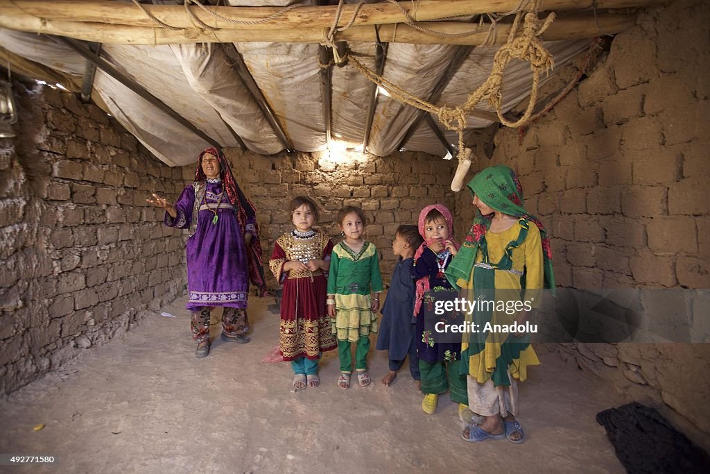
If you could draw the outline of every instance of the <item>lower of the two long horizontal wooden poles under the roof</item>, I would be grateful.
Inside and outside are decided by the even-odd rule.
[[[601,34],[620,33],[636,22],[635,15],[599,14],[597,18],[588,14],[574,18],[557,18],[547,28],[543,38],[547,41],[594,38]],[[244,43],[250,41],[275,41],[280,43],[323,43],[325,28],[301,28],[300,30],[221,30],[200,31],[197,29],[171,31],[167,28],[148,28],[146,26],[117,26],[106,23],[85,23],[80,21],[43,21],[27,14],[0,16],[0,28],[8,28],[32,33],[47,33],[56,36],[95,43],[126,45],[168,45],[191,43]],[[470,23],[431,22],[430,28],[441,33],[461,33],[471,31]],[[503,44],[508,38],[510,24],[498,23],[493,44]],[[461,38],[442,38],[428,33],[421,33],[414,28],[401,24],[388,24],[379,27],[379,36],[385,43],[411,44],[452,44],[484,45],[487,33],[474,33]],[[342,33],[337,33],[336,41],[376,43],[375,28],[354,26]]]

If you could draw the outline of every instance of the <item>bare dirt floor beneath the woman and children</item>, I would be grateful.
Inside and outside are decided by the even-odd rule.
[[[594,420],[621,402],[557,355],[540,354],[543,365],[520,385],[525,443],[466,443],[456,404],[440,397],[437,413],[425,414],[406,365],[391,387],[379,383],[385,352],[371,352],[369,387],[339,389],[333,351],[321,387],[294,392],[288,363],[262,362],[278,343],[270,304],[250,302],[251,343],[218,339],[197,359],[180,298],[162,309],[177,318],[155,313],[1,400],[0,453],[57,462],[0,472],[624,472]],[[220,325],[212,328],[218,336]]]

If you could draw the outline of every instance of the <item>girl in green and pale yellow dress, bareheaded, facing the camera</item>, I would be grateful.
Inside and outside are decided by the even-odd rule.
[[[357,343],[355,370],[361,387],[370,384],[367,353],[370,333],[377,332],[382,276],[376,247],[364,238],[366,217],[355,206],[342,208],[337,215],[343,241],[333,248],[326,303],[338,340],[340,377],[338,387],[350,387],[352,357],[350,344]]]

